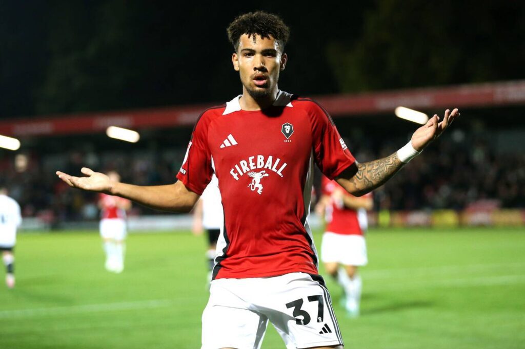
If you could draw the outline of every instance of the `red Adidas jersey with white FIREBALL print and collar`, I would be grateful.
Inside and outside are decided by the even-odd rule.
[[[199,195],[218,178],[225,219],[213,277],[317,274],[313,163],[334,178],[355,160],[316,102],[279,91],[273,106],[244,111],[240,97],[201,114],[177,174]]]

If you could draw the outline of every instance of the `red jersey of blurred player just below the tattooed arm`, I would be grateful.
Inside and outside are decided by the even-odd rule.
[[[330,196],[335,190],[341,190],[343,195],[352,196],[336,181],[323,176],[321,179],[322,194]],[[372,197],[372,193],[367,193],[363,197]],[[358,211],[345,208],[342,203],[334,202],[334,200],[330,200],[325,210],[325,219],[327,221],[325,231],[343,235],[363,235],[359,224]]]

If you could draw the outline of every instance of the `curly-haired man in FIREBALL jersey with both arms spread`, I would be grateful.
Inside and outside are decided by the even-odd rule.
[[[264,12],[229,25],[243,94],[201,114],[176,183],[140,187],[88,168],[81,178],[57,171],[71,187],[183,212],[216,174],[225,223],[203,313],[205,349],[259,348],[268,321],[288,348],[342,348],[308,223],[313,163],[346,191],[362,195],[391,178],[458,115],[447,110],[441,123],[435,115],[400,151],[356,163],[321,106],[278,89],[288,36],[282,20]]]

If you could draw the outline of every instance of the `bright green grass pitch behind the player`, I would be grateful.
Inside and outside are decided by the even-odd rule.
[[[367,245],[360,318],[345,317],[326,278],[346,348],[525,347],[523,228],[372,230]],[[131,234],[115,275],[96,232],[19,234],[0,347],[199,348],[204,249],[187,232]],[[262,347],[284,347],[271,325]]]

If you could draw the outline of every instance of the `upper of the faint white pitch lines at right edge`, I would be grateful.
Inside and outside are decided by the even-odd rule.
[[[399,275],[407,274],[413,276],[426,275],[428,273],[444,274],[446,272],[470,272],[470,271],[484,271],[491,268],[519,268],[525,267],[525,262],[520,263],[486,263],[486,264],[466,264],[466,265],[446,265],[439,267],[417,267],[417,268],[392,268],[392,269],[376,269],[363,271],[363,275],[367,279],[383,279],[385,277],[398,277]]]

